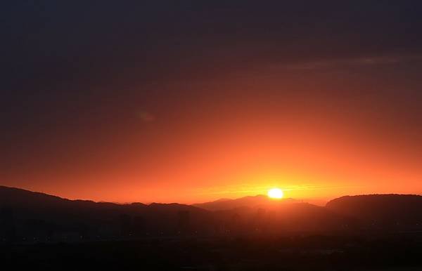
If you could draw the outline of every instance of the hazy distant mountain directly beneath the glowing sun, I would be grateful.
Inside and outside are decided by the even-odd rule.
[[[239,199],[218,199],[217,201],[209,201],[201,204],[193,204],[209,211],[230,210],[241,207],[249,208],[267,208],[269,206],[277,206],[279,204],[292,204],[300,201],[295,199],[269,199],[269,197],[259,194],[257,196],[241,197]]]

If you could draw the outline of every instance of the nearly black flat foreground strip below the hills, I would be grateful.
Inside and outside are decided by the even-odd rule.
[[[422,270],[418,234],[2,245],[1,270]]]

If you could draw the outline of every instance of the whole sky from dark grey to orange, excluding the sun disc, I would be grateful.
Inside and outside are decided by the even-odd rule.
[[[0,185],[422,193],[421,1],[2,1]]]

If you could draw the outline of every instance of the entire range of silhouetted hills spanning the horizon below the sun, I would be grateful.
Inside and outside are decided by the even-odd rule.
[[[262,195],[195,206],[147,205],[69,200],[0,187],[0,219],[1,242],[415,231],[422,228],[422,197],[340,197],[325,207]]]

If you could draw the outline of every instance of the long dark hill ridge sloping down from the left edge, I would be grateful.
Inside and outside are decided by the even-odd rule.
[[[69,200],[0,186],[0,240],[12,235],[75,240],[180,234],[204,230],[210,218],[208,211],[183,204]]]

